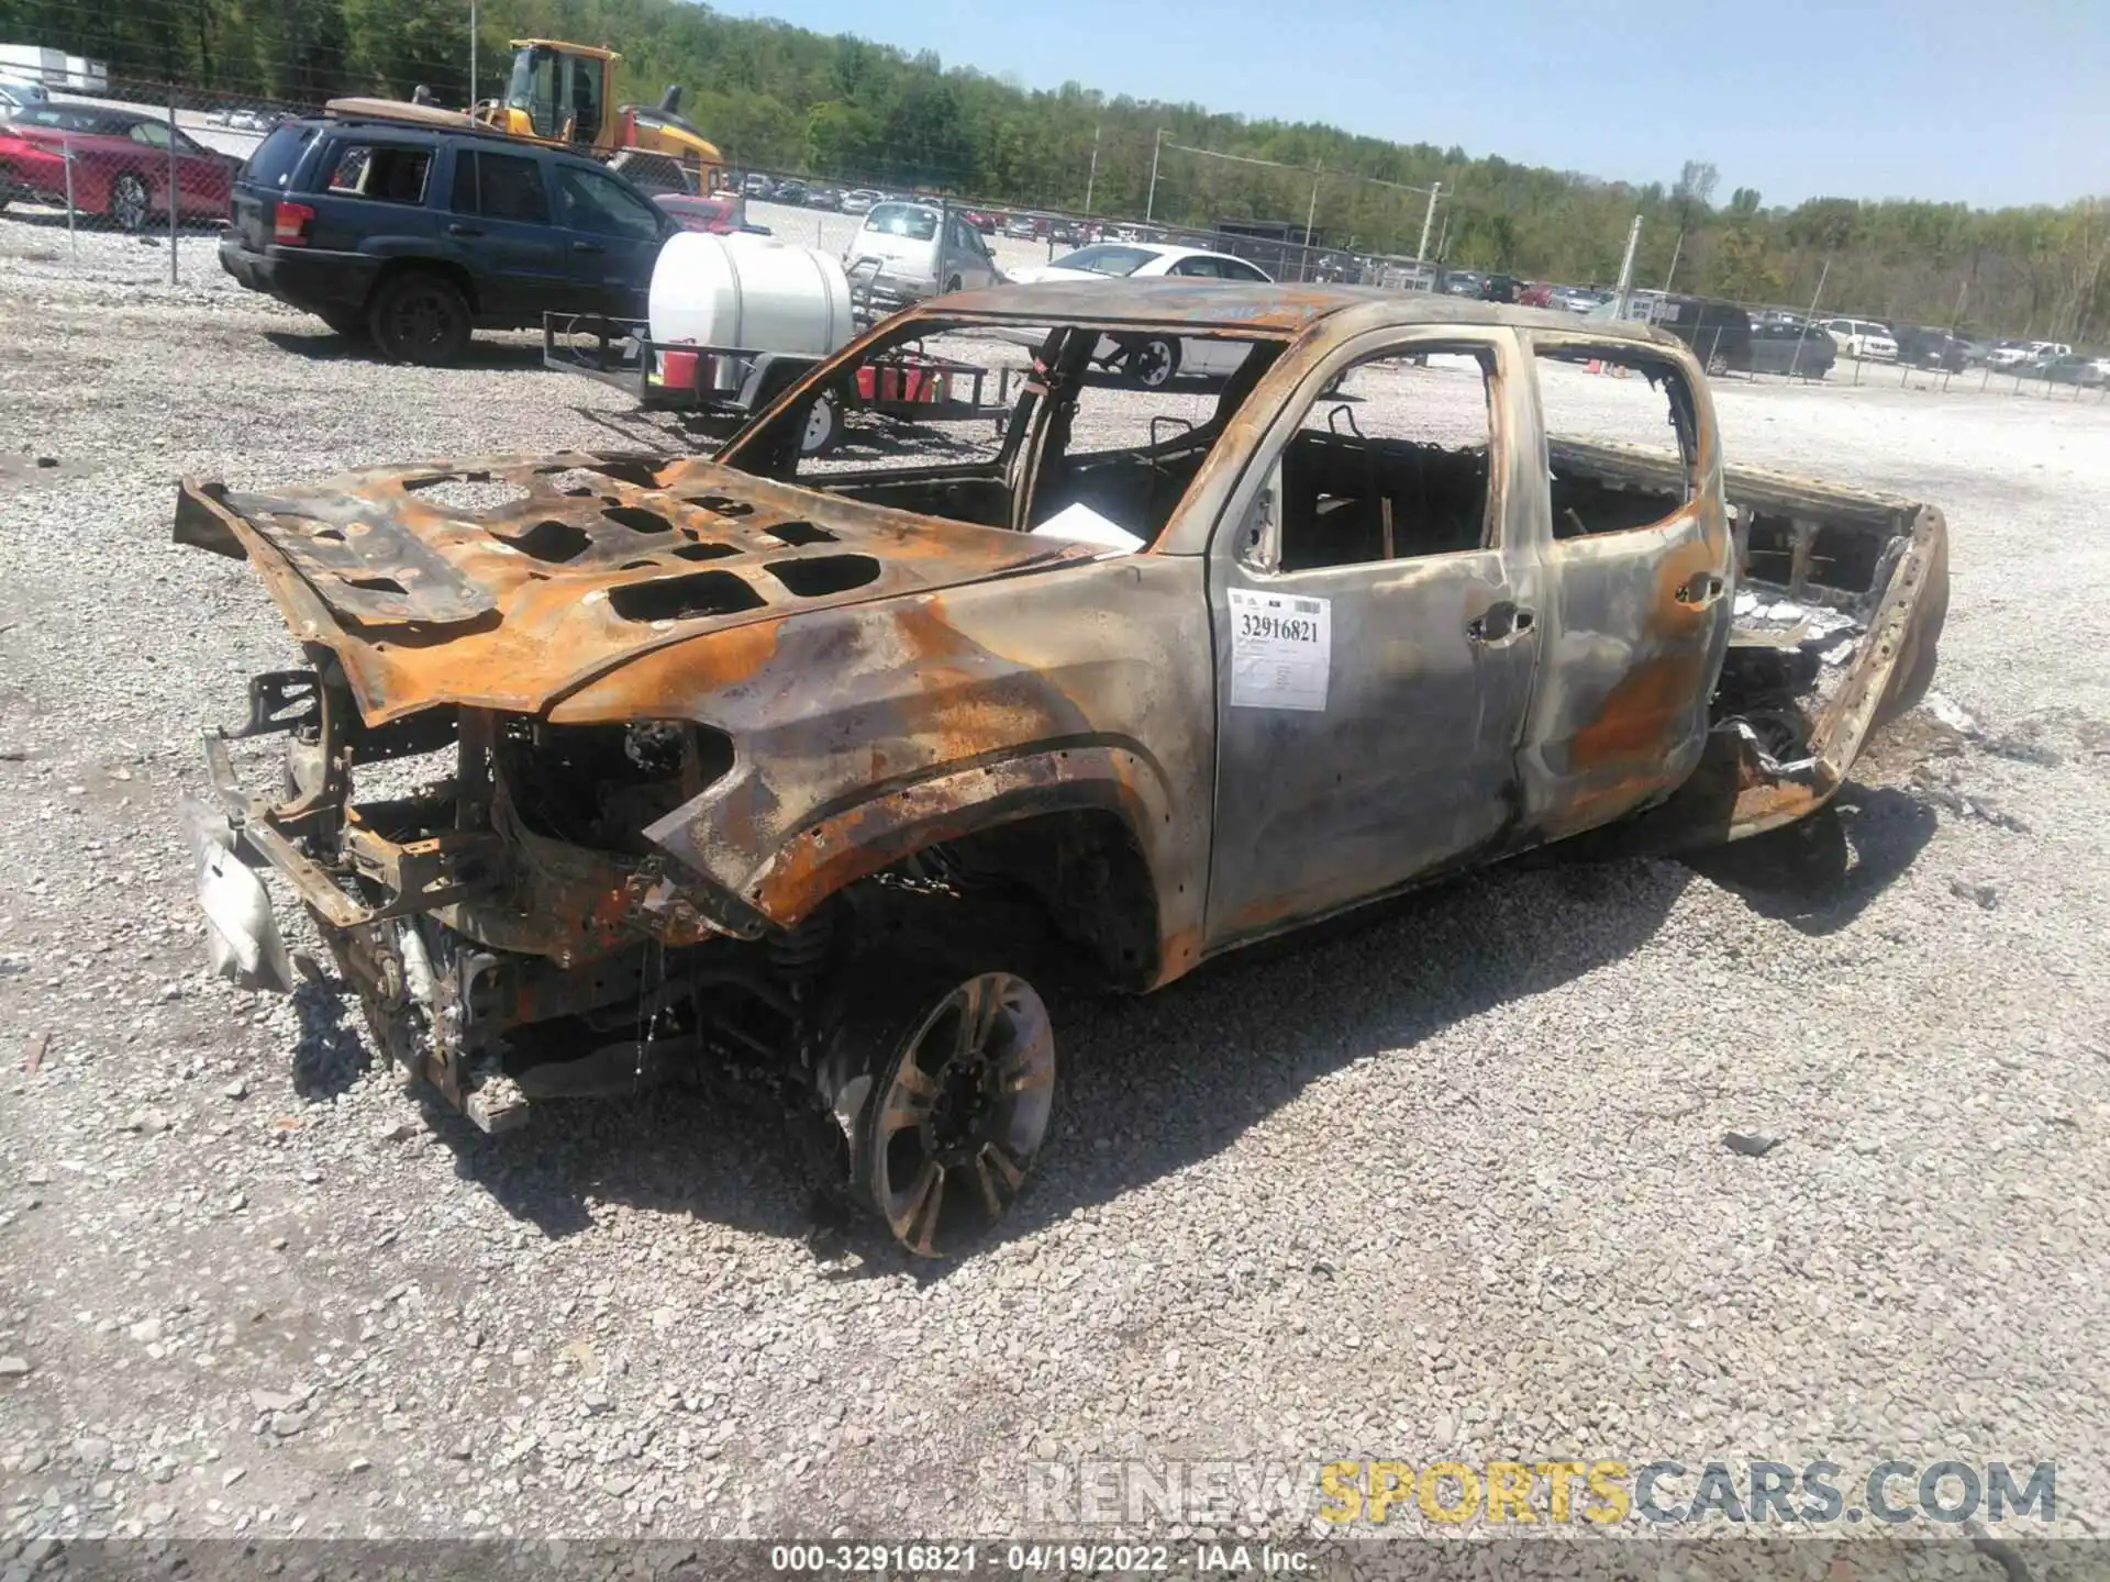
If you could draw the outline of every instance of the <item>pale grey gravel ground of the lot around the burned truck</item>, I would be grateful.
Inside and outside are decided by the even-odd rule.
[[[658,437],[521,337],[382,367],[209,238],[179,289],[82,243],[0,219],[13,1540],[998,1536],[1034,1460],[1443,1453],[2057,1458],[2055,1529],[2104,1521],[2102,405],[1724,384],[1734,458],[1954,532],[1950,724],[1842,799],[1853,867],[1498,871],[1068,1006],[1013,1234],[918,1270],[817,1259],[768,1126],[485,1139],[331,987],[205,975],[175,802],[291,650],[175,479]]]

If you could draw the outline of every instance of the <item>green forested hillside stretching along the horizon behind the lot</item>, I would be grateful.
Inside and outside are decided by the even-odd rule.
[[[874,25],[884,27],[884,13]],[[1610,281],[1639,213],[1644,285],[1663,285],[1675,255],[1677,289],[1743,302],[1806,306],[1823,276],[1825,308],[1924,323],[1960,312],[1981,331],[2068,340],[2110,329],[2104,198],[1998,211],[1848,196],[1768,207],[1753,188],[1715,190],[1703,114],[1665,129],[1665,179],[1633,184],[1076,82],[1028,91],[928,53],[684,0],[481,0],[477,95],[502,91],[506,40],[519,36],[622,51],[631,99],[679,82],[690,120],[738,165],[1063,209],[1085,209],[1089,186],[1093,213],[1139,217],[1163,131],[1158,219],[1302,221],[1317,179],[1329,243],[1412,253],[1424,198],[1395,188],[1441,181],[1433,251],[1439,243],[1460,266]],[[0,40],[103,59],[141,93],[175,82],[194,97],[314,103],[424,82],[443,103],[471,97],[468,0],[0,0]],[[1353,118],[1353,105],[1342,110]],[[1850,150],[1840,162],[1850,171]]]

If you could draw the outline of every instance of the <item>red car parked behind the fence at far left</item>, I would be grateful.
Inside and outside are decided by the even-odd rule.
[[[76,211],[108,215],[124,230],[167,226],[171,139],[177,217],[226,219],[238,158],[156,116],[76,103],[25,105],[0,120],[0,209],[17,198],[63,207],[72,152]]]

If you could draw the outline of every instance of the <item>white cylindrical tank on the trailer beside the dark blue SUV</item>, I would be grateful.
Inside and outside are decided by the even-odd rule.
[[[667,240],[652,266],[648,297],[652,342],[743,352],[827,356],[857,333],[850,281],[842,264],[817,247],[734,232],[684,230]],[[741,382],[736,359],[703,359],[707,367],[675,367],[663,350],[669,384],[696,382],[728,390]]]

